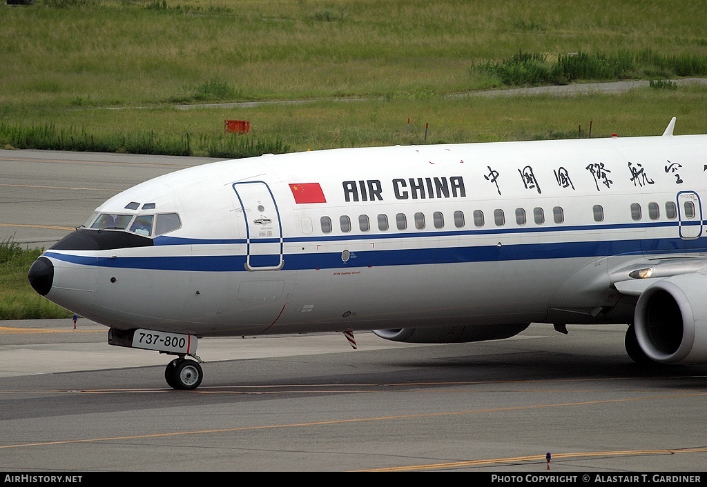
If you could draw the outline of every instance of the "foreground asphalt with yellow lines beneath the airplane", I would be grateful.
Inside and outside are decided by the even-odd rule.
[[[641,368],[625,327],[569,329],[357,333],[356,350],[341,334],[202,339],[204,382],[175,391],[168,356],[108,346],[86,319],[2,322],[0,472],[546,474],[547,452],[550,473],[590,483],[704,471],[707,367]]]

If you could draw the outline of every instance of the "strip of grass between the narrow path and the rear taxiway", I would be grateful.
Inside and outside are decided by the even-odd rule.
[[[571,97],[450,98],[401,93],[385,100],[261,105],[240,108],[235,115],[228,108],[57,110],[46,112],[42,124],[29,127],[0,123],[0,139],[7,132],[25,134],[31,141],[32,134],[39,132],[37,139],[43,143],[33,147],[61,148],[73,128],[74,140],[82,147],[95,141],[113,144],[87,150],[126,152],[122,141],[127,135],[153,134],[155,139],[146,138],[139,152],[156,153],[160,143],[172,141],[177,146],[188,139],[188,151],[194,155],[227,158],[331,147],[543,139],[551,133],[571,136],[579,125],[588,127],[590,122],[592,136],[662,134],[671,117],[677,117],[676,134],[696,134],[707,129],[706,95],[705,87],[647,86],[621,95]],[[250,120],[251,133],[224,134],[223,120],[231,118]],[[92,139],[86,127],[76,128],[87,120],[93,123]],[[158,129],[160,125],[163,129]],[[124,127],[124,132],[114,133],[115,127]],[[163,149],[163,153],[185,152]]]

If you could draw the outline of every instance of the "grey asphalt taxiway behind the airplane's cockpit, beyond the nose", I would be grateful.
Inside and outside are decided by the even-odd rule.
[[[124,189],[216,160],[0,149],[0,242],[48,248]]]

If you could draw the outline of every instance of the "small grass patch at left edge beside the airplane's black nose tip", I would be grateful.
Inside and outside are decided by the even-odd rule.
[[[27,280],[42,249],[23,249],[12,239],[0,242],[0,319],[66,318],[68,310],[35,293]]]

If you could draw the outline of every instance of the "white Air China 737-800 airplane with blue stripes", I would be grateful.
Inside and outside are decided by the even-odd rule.
[[[113,196],[29,271],[108,341],[202,378],[204,336],[503,339],[628,324],[707,363],[707,135],[342,148],[200,165]]]

